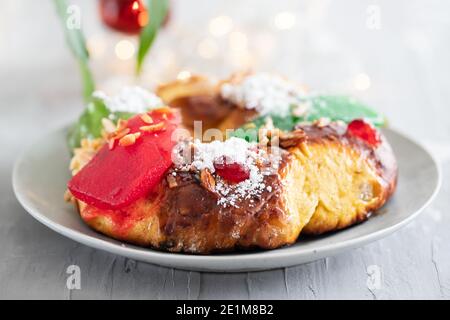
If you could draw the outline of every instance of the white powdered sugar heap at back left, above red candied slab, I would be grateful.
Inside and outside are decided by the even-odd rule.
[[[111,112],[143,113],[164,105],[157,95],[141,87],[125,87],[115,96],[96,91],[94,97],[102,99]]]

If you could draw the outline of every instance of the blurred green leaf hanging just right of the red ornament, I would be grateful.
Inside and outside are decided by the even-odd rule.
[[[158,30],[163,24],[169,11],[169,0],[147,0],[149,22],[142,29],[139,39],[139,51],[137,54],[136,72],[140,74],[147,53],[156,39]]]

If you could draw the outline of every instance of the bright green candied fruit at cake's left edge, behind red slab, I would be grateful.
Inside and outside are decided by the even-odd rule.
[[[67,142],[73,150],[80,146],[82,139],[99,138],[102,134],[102,119],[110,115],[109,109],[100,99],[91,99],[77,123],[69,131]]]

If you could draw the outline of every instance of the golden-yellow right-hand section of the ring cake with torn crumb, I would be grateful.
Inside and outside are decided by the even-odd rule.
[[[381,144],[372,147],[358,138],[349,136],[346,133],[346,126],[338,123],[331,123],[322,128],[314,125],[298,128],[305,131],[309,145],[316,145],[316,148],[310,149],[343,146],[345,148],[337,148],[339,152],[335,160],[353,162],[349,167],[350,171],[345,174],[341,170],[335,170],[333,177],[321,176],[323,185],[329,188],[320,193],[324,199],[321,199],[316,212],[303,229],[304,234],[318,235],[362,222],[370,217],[373,211],[382,207],[394,193],[397,184],[397,163],[392,148],[383,135]],[[351,151],[350,157],[344,155],[348,151]],[[320,155],[312,155],[314,156],[319,159],[316,172],[320,175],[325,170],[320,166],[323,159]],[[356,197],[349,197],[349,192],[354,189],[344,185],[346,176],[359,184],[360,192]],[[333,188],[336,187],[343,190],[336,194],[333,192]]]

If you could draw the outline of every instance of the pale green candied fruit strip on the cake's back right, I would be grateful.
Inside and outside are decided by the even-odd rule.
[[[302,121],[314,121],[320,118],[341,120],[346,123],[364,118],[377,127],[386,124],[384,116],[367,105],[347,96],[318,95],[310,98],[311,109]]]

